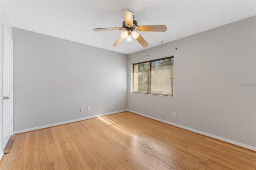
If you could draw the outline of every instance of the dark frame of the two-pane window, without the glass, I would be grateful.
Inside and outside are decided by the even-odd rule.
[[[173,97],[173,89],[172,89],[172,95],[166,95],[166,94],[161,94],[161,93],[150,93],[151,91],[151,68],[152,68],[152,62],[154,61],[160,61],[160,60],[164,60],[164,59],[174,59],[174,56],[171,55],[171,56],[168,56],[168,57],[164,57],[164,58],[159,58],[159,59],[153,59],[153,60],[148,60],[148,61],[143,61],[143,62],[139,62],[139,63],[132,63],[132,91],[131,93],[139,93],[139,94],[146,94],[146,95],[160,95],[160,96],[169,96],[169,97]],[[136,64],[141,64],[141,63],[150,63],[150,70],[149,70],[149,88],[148,88],[148,93],[142,93],[142,92],[136,92],[134,91],[134,65]],[[173,66],[174,67],[174,66]],[[173,69],[172,69],[173,71]],[[173,79],[174,75],[172,76],[172,79]],[[172,80],[172,83],[173,83],[173,80]],[[172,86],[173,87],[173,86]]]

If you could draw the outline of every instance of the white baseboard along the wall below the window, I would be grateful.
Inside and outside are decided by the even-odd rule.
[[[216,138],[216,139],[218,139],[218,140],[222,140],[222,141],[225,141],[225,142],[228,142],[228,143],[231,143],[231,144],[235,144],[235,145],[241,146],[241,147],[243,147],[243,148],[248,148],[248,149],[250,149],[250,150],[256,151],[256,147],[254,147],[254,146],[250,146],[250,145],[247,145],[247,144],[243,144],[243,143],[240,143],[240,142],[236,142],[236,141],[234,141],[234,140],[222,138],[222,137],[220,137],[220,136],[216,136],[216,135],[213,135],[213,134],[210,134],[210,133],[202,132],[202,131],[200,131],[200,130],[196,130],[196,129],[193,129],[193,128],[189,128],[189,127],[185,127],[185,126],[182,126],[182,125],[178,125],[178,124],[176,124],[176,123],[172,123],[172,122],[169,122],[169,121],[164,121],[164,120],[162,120],[162,119],[158,119],[158,118],[156,118],[156,117],[144,115],[144,114],[142,114],[142,113],[139,113],[139,112],[136,112],[136,111],[132,111],[132,110],[129,110],[129,109],[127,109],[127,111],[130,111],[130,112],[132,112],[132,113],[136,113],[136,114],[138,114],[138,115],[141,115],[141,116],[144,116],[144,117],[148,117],[148,118],[151,118],[151,119],[160,121],[160,122],[164,122],[164,123],[167,123],[167,124],[169,124],[169,125],[174,125],[174,126],[176,126],[176,127],[184,128],[184,129],[190,130],[190,131],[192,131],[192,132],[196,132],[196,133],[200,133],[200,134],[203,134],[203,135],[212,137],[212,138]]]

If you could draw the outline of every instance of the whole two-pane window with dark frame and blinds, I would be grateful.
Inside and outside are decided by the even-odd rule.
[[[132,92],[172,96],[173,57],[136,63],[132,66]]]

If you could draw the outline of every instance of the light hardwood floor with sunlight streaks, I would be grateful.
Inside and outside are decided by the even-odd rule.
[[[14,136],[0,169],[256,169],[256,153],[123,112]]]

